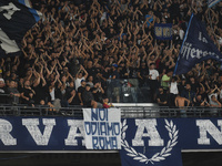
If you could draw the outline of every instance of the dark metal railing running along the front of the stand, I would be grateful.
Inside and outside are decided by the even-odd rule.
[[[162,107],[154,104],[117,104],[121,108],[122,118],[150,118],[150,117],[211,117],[222,116],[221,107]],[[0,105],[0,116],[72,116],[82,117],[82,106],[47,107]]]

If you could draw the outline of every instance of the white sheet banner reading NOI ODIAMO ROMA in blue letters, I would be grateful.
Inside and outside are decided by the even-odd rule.
[[[121,111],[119,108],[83,108],[85,147],[121,148]]]

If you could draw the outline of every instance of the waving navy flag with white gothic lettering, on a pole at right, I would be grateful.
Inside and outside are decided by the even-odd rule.
[[[184,74],[196,63],[208,59],[222,62],[222,54],[208,35],[205,25],[192,14],[180,50],[174,74]]]

